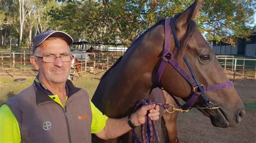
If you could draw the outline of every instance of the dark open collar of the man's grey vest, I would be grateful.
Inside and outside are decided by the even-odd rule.
[[[46,103],[46,102],[55,102],[35,82],[33,82],[33,87],[36,90],[36,102],[37,102],[38,105]],[[75,87],[75,85],[73,85],[73,83],[70,80],[66,81],[66,87],[68,87],[68,90],[69,90],[68,97],[71,97],[73,94],[75,94],[77,91],[80,90],[80,88]]]

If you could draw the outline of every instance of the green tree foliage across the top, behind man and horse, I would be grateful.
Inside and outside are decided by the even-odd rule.
[[[28,10],[23,29],[23,45],[45,30],[68,32],[75,41],[121,43],[129,46],[159,17],[173,17],[193,1],[36,1],[24,0]],[[207,40],[235,44],[253,32],[253,0],[205,0],[197,24]],[[0,1],[0,30],[5,44],[17,44],[18,1]],[[12,41],[11,41],[12,40]]]

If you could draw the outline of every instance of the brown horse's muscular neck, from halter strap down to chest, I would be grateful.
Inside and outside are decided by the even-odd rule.
[[[126,116],[139,99],[149,97],[152,73],[162,50],[159,46],[164,41],[164,35],[158,34],[159,31],[163,33],[163,26],[160,28],[145,34],[143,40],[135,41],[122,60],[100,81],[93,101],[107,116]]]

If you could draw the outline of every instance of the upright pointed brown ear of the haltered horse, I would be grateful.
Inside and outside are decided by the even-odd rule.
[[[176,20],[176,28],[181,30],[181,28],[186,27],[187,23],[191,19],[196,19],[199,13],[199,1],[195,1],[189,8],[187,8]]]

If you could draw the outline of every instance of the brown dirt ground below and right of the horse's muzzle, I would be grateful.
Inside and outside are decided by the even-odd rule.
[[[235,89],[243,102],[256,102],[256,80],[238,77]],[[180,142],[256,142],[256,110],[246,109],[246,116],[234,128],[214,127],[210,118],[193,109],[179,113],[178,138]]]

